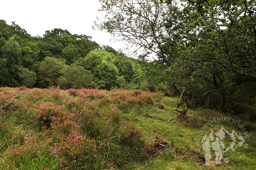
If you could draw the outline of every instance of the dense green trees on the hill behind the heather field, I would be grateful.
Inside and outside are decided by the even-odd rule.
[[[55,28],[32,37],[0,20],[0,86],[133,88],[142,62],[86,35]]]

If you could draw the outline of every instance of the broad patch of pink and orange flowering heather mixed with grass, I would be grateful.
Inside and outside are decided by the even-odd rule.
[[[155,100],[139,90],[0,88],[0,169],[114,169],[118,148],[144,146],[124,112]]]

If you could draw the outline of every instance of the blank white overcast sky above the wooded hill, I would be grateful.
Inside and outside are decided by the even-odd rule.
[[[101,3],[98,0],[0,0],[0,19],[11,25],[15,22],[32,36],[42,36],[46,30],[67,29],[72,34],[92,36],[92,40],[101,45],[108,45],[124,50],[124,43],[113,39],[110,33],[93,30]],[[132,48],[132,47],[131,47]]]

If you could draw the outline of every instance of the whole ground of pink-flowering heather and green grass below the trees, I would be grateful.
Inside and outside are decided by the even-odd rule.
[[[207,109],[189,109],[186,120],[175,120],[173,110],[177,101],[175,97],[139,90],[0,88],[0,167],[4,170],[256,167],[255,124]],[[221,117],[230,117],[230,121],[214,122]],[[232,141],[227,138],[221,141],[234,151],[225,151],[222,164],[215,164],[211,150],[210,165],[206,166],[197,135],[209,121],[214,123],[204,129],[203,136],[206,134],[214,142],[217,132],[224,127],[222,132],[225,135],[230,132]],[[239,129],[241,125],[250,132],[245,134]],[[211,131],[214,137],[210,136]],[[242,139],[250,141],[238,143]]]

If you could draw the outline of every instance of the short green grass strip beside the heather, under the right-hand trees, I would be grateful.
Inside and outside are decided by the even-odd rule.
[[[213,158],[211,158],[210,165],[206,166],[202,161],[204,157],[204,151],[196,147],[195,137],[200,133],[200,128],[205,123],[217,117],[230,117],[221,112],[210,109],[188,109],[187,116],[190,117],[190,122],[178,122],[171,120],[176,117],[176,113],[173,112],[176,107],[178,98],[175,97],[163,97],[161,103],[167,108],[167,110],[161,110],[154,106],[144,107],[140,112],[133,112],[131,117],[136,120],[136,124],[141,128],[142,133],[145,135],[145,139],[150,142],[151,136],[158,136],[164,138],[169,144],[173,141],[173,144],[180,148],[180,150],[173,150],[169,148],[163,154],[159,156],[151,156],[149,159],[139,164],[128,164],[125,166],[125,170],[191,170],[191,169],[254,169],[256,168],[256,133],[249,132],[250,142],[245,142],[248,147],[237,148],[234,152],[229,150],[224,155],[229,159],[229,162],[225,163],[222,160],[222,164],[215,164],[215,155],[212,152]],[[236,117],[234,117],[236,119]],[[236,119],[238,120],[238,119]],[[242,121],[242,120],[241,120]],[[244,122],[244,121],[243,121]],[[219,130],[222,126],[229,132],[232,130],[238,134],[242,134],[238,125],[227,122],[218,121],[211,124],[211,128]],[[210,128],[206,131],[210,133]],[[245,138],[245,136],[244,136]],[[224,159],[224,158],[223,158]]]

